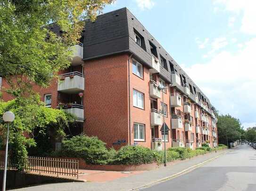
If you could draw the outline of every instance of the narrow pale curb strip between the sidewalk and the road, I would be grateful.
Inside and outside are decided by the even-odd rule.
[[[189,168],[186,168],[186,169],[182,170],[181,172],[178,172],[178,173],[173,174],[173,175],[171,175],[171,176],[167,176],[167,177],[165,177],[165,178],[158,179],[158,180],[156,180],[156,181],[153,181],[153,182],[151,182],[151,183],[145,184],[145,185],[143,185],[143,186],[139,186],[139,187],[136,187],[136,188],[132,188],[132,189],[130,189],[129,191],[139,191],[140,189],[148,188],[148,187],[150,187],[150,186],[152,186],[152,185],[154,185],[154,184],[161,183],[161,182],[165,182],[166,180],[170,180],[170,179],[172,179],[172,178],[174,178],[174,177],[176,177],[176,176],[180,176],[180,175],[182,175],[182,174],[188,173],[188,172],[190,172],[191,170],[193,170],[194,168],[197,168],[197,167],[199,167],[199,166],[202,166],[203,164],[205,164],[205,163],[207,163],[207,162],[209,162],[209,161],[211,161],[211,160],[215,160],[216,158],[218,158],[218,157],[220,157],[220,156],[222,156],[222,155],[224,155],[224,154],[226,154],[226,153],[229,153],[229,152],[230,152],[230,151],[224,152],[224,153],[219,154],[219,155],[217,155],[217,156],[215,156],[215,157],[213,157],[213,158],[211,158],[211,159],[205,160],[205,161],[200,162],[200,163],[198,163],[198,164],[196,164],[196,165],[193,165],[193,166],[191,166],[191,167],[189,167]]]

